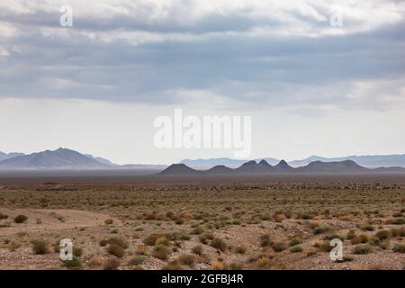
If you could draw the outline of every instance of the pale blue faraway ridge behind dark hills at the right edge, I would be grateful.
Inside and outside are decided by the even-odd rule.
[[[294,160],[290,162],[291,166],[306,166],[314,161],[322,162],[340,162],[352,160],[360,166],[368,168],[377,168],[381,166],[401,166],[405,167],[405,154],[403,155],[365,155],[365,156],[347,156],[347,157],[320,157],[311,156],[302,160]]]

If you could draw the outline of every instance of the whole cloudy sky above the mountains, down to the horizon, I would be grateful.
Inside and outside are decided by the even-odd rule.
[[[175,109],[250,116],[248,158],[404,154],[405,2],[0,2],[0,151],[234,156],[157,148]]]

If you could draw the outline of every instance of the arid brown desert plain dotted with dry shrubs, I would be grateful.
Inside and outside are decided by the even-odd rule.
[[[404,239],[405,175],[0,175],[0,269],[404,269]]]

